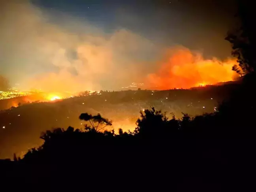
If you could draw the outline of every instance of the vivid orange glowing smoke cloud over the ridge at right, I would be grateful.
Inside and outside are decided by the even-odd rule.
[[[184,47],[170,49],[164,60],[159,62],[157,72],[148,75],[148,87],[164,90],[204,87],[232,81],[238,77],[232,71],[232,66],[236,63],[234,59],[223,62],[217,58],[205,60],[200,53],[192,53]]]

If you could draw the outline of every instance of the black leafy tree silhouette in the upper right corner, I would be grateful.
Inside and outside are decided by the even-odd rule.
[[[228,32],[225,40],[232,44],[232,55],[237,58],[239,65],[233,66],[240,75],[256,72],[256,29],[254,26],[253,5],[248,0],[238,0],[238,11],[235,17],[239,18],[240,26]]]

